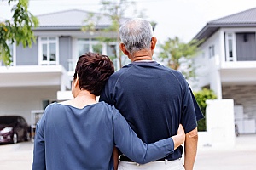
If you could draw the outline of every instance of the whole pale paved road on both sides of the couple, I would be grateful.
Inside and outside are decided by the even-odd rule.
[[[0,170],[28,170],[32,166],[32,142],[0,145]],[[255,170],[256,135],[236,138],[230,150],[199,149],[195,170]]]

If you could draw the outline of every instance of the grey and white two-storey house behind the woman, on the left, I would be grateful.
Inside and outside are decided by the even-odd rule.
[[[20,115],[31,124],[31,112],[42,111],[57,100],[57,92],[70,90],[77,59],[87,51],[113,56],[116,43],[100,43],[96,37],[110,26],[106,16],[95,17],[95,32],[83,32],[81,27],[90,15],[83,10],[67,10],[38,15],[39,26],[34,29],[37,42],[32,48],[10,45],[11,66],[0,61],[0,116]],[[104,33],[105,37],[113,37]]]

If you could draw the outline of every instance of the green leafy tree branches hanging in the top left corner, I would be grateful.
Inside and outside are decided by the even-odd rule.
[[[10,3],[15,0],[9,0]],[[13,12],[12,20],[0,21],[0,59],[5,65],[10,65],[12,56],[9,50],[10,43],[23,47],[31,47],[32,42],[35,42],[35,37],[32,28],[38,26],[38,19],[33,16],[28,10],[28,0],[19,0],[11,9]]]

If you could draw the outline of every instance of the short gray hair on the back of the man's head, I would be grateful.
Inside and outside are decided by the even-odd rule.
[[[147,20],[135,18],[127,20],[120,28],[119,35],[125,49],[130,53],[150,49],[153,29]]]

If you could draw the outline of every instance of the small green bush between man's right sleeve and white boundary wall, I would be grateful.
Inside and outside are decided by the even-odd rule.
[[[217,95],[210,89],[203,88],[201,91],[195,92],[195,99],[200,106],[201,112],[205,116],[204,119],[198,121],[198,131],[206,131],[206,109],[207,109],[207,99],[217,99]]]

